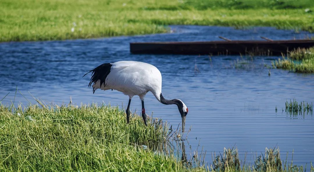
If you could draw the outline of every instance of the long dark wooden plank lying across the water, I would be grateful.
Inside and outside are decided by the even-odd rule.
[[[276,41],[209,41],[209,42],[132,42],[134,54],[230,54],[254,53],[256,55],[280,55],[295,48],[314,46],[314,40]]]

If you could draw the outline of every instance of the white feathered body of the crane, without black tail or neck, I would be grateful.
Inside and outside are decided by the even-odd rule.
[[[161,74],[153,65],[136,61],[118,61],[111,63],[111,70],[106,78],[106,86],[100,87],[100,80],[93,84],[96,90],[114,89],[132,98],[138,95],[142,100],[147,92],[152,92],[160,101]]]

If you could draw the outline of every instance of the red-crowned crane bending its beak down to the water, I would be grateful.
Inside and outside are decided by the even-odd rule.
[[[185,118],[188,112],[187,106],[180,99],[167,100],[162,96],[161,74],[155,66],[136,61],[118,61],[101,64],[95,69],[89,70],[89,72],[92,72],[92,76],[88,86],[93,87],[93,93],[100,88],[100,90],[117,90],[129,96],[126,110],[127,123],[130,121],[131,99],[133,96],[138,95],[142,101],[144,124],[147,125],[144,97],[150,91],[160,103],[176,104],[178,106],[182,118],[182,132],[184,131]]]

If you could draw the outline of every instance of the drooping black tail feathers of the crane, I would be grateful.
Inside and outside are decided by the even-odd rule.
[[[92,76],[90,78],[90,82],[88,84],[88,87],[90,87],[92,85],[92,83],[96,83],[97,80],[100,80],[100,87],[102,84],[104,84],[104,86],[106,86],[105,80],[110,73],[111,66],[112,66],[112,64],[110,64],[110,63],[104,63],[104,64],[99,65],[98,67],[96,67],[93,70],[88,70],[89,72],[87,72],[85,75],[92,72],[92,74],[91,74]],[[94,88],[93,88],[93,93],[95,93]]]

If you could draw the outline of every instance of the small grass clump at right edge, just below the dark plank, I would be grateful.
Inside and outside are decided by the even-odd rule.
[[[314,73],[314,47],[299,48],[288,53],[288,57],[274,61],[273,67],[298,73]]]

